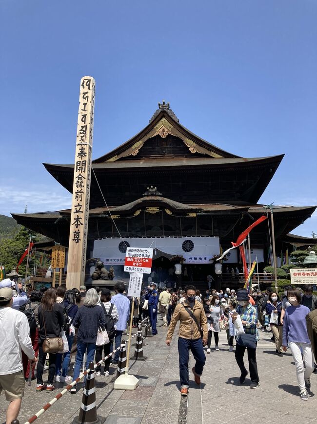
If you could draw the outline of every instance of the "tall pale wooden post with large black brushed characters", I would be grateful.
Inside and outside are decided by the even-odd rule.
[[[66,287],[73,289],[85,282],[86,250],[95,109],[95,80],[80,80],[79,112],[74,166],[73,201],[70,221]]]

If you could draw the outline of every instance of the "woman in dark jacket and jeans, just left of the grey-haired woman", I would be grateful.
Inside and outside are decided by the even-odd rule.
[[[66,323],[65,335],[68,341],[68,351],[64,354],[57,354],[55,381],[64,382],[72,379],[67,375],[67,369],[75,336],[73,321],[79,309],[76,305],[76,295],[73,290],[67,290],[65,292],[64,300],[60,305],[63,307],[64,315],[67,315],[68,322]],[[61,374],[60,368],[62,368]]]

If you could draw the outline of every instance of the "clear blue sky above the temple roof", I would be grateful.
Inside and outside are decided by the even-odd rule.
[[[74,161],[84,75],[96,79],[94,158],[165,99],[224,150],[286,154],[261,202],[317,204],[315,0],[2,0],[0,16],[1,214],[70,207],[42,162]],[[294,233],[312,230],[316,214]]]

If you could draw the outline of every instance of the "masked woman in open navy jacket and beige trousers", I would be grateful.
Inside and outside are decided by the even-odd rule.
[[[268,302],[266,304],[265,311],[270,320],[270,327],[274,335],[276,353],[279,357],[282,357],[283,325],[280,322],[282,302],[278,299],[275,291],[271,291],[269,301],[270,303]]]

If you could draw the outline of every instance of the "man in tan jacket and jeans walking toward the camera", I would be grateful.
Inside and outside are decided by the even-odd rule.
[[[200,384],[200,376],[205,365],[206,357],[203,346],[207,344],[208,328],[207,318],[202,303],[195,299],[196,288],[189,285],[185,287],[185,301],[179,303],[173,313],[171,323],[166,336],[166,344],[169,346],[177,322],[179,321],[178,355],[179,355],[179,378],[180,394],[188,395],[189,374],[188,360],[189,350],[192,351],[196,364],[192,369],[195,382]],[[201,335],[202,331],[202,335]]]

